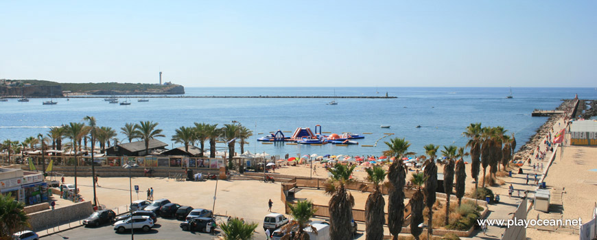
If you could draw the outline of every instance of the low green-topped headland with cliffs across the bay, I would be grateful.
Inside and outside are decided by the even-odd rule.
[[[61,97],[67,95],[181,95],[178,84],[131,84],[117,82],[59,83],[44,80],[1,80],[0,95],[5,97]]]

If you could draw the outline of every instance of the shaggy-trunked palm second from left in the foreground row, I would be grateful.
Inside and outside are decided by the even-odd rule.
[[[365,204],[365,239],[382,240],[384,239],[384,224],[386,224],[384,213],[386,202],[382,192],[379,191],[379,184],[384,182],[388,173],[379,166],[375,166],[373,169],[368,168],[366,171],[369,182],[373,182],[373,192],[369,194]]]

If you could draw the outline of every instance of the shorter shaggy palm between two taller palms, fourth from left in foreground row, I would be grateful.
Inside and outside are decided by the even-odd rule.
[[[427,180],[427,176],[423,175],[423,173],[412,173],[411,181],[417,187],[417,191],[410,197],[410,234],[416,240],[419,240],[419,235],[423,232],[423,228],[419,228],[419,224],[423,223],[423,208],[425,208],[423,199],[425,196],[423,195],[423,191],[421,191],[421,186],[423,186],[425,180]],[[428,228],[431,228],[431,226],[428,226]]]

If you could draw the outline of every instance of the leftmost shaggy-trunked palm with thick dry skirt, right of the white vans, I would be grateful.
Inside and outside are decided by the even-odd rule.
[[[325,184],[325,193],[331,195],[329,199],[329,237],[332,240],[350,239],[352,209],[355,198],[346,189],[346,185],[353,182],[351,175],[355,165],[336,164],[327,169],[330,176]]]

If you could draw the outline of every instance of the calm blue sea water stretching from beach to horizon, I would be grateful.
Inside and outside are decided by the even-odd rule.
[[[483,126],[503,126],[522,146],[547,117],[531,117],[532,110],[552,110],[561,99],[597,99],[596,88],[512,88],[513,98],[506,99],[510,88],[398,88],[398,87],[292,87],[292,88],[185,88],[187,96],[395,96],[395,99],[342,99],[338,105],[327,105],[333,99],[317,98],[150,98],[137,102],[139,96],[130,96],[132,104],[108,104],[102,98],[54,99],[56,105],[43,105],[49,99],[30,99],[19,102],[10,99],[0,102],[0,141],[23,141],[28,136],[46,134],[51,126],[83,122],[85,116],[97,119],[97,125],[108,126],[119,132],[120,141],[126,141],[120,128],[125,123],[154,121],[166,137],[158,138],[169,145],[180,147],[172,135],[180,126],[193,123],[218,123],[222,126],[233,121],[253,131],[245,151],[267,153],[272,156],[304,156],[307,154],[380,156],[388,149],[385,142],[405,138],[410,152],[424,154],[423,146],[465,145],[462,133],[470,123]],[[120,96],[120,101],[125,98]],[[364,134],[359,145],[288,145],[262,144],[257,138],[281,130],[291,135],[296,128],[321,125],[323,132]],[[390,125],[390,128],[380,128]],[[420,128],[416,128],[420,125]],[[67,140],[68,141],[68,140]],[[364,147],[363,145],[373,145]],[[209,144],[206,143],[206,149]],[[218,143],[224,149],[224,143]],[[236,150],[239,152],[239,145]]]

